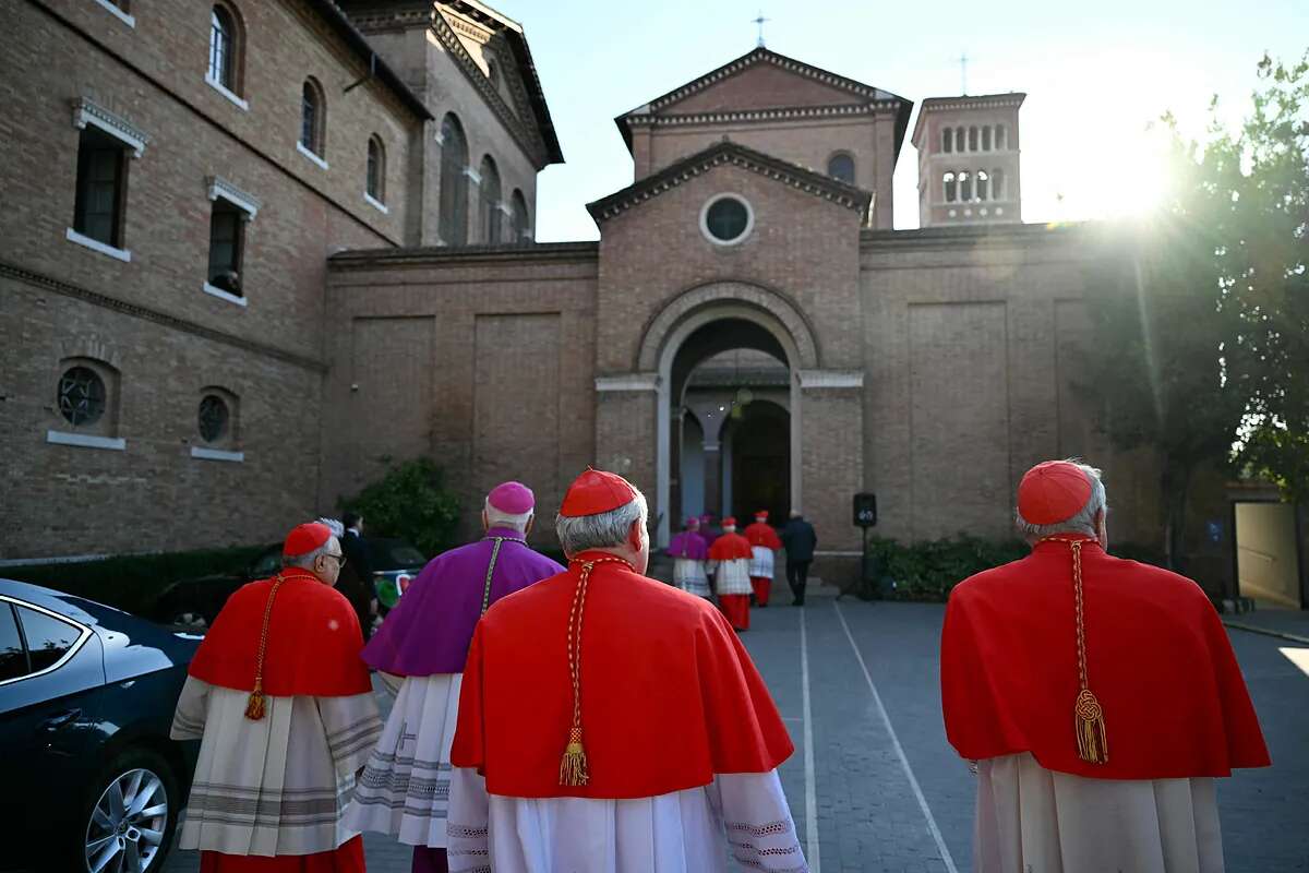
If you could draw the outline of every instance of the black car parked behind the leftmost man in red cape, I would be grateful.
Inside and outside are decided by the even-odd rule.
[[[408,585],[427,563],[418,548],[403,539],[368,539],[373,560],[372,586],[374,594],[397,590]],[[281,544],[268,546],[238,573],[183,579],[165,588],[145,614],[164,624],[177,624],[196,631],[213,623],[219,610],[232,594],[259,579],[268,579],[281,569]],[[384,594],[385,601],[385,594]],[[363,609],[363,606],[360,607]],[[386,607],[382,607],[385,614]]]

